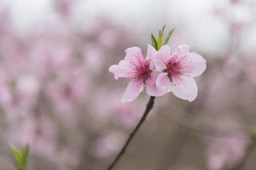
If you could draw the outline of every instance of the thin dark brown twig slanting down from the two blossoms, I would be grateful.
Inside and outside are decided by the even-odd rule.
[[[132,133],[130,134],[129,138],[127,139],[124,147],[122,148],[122,150],[120,151],[120,153],[117,155],[117,157],[115,158],[115,160],[112,162],[112,164],[107,168],[107,170],[111,170],[117,163],[117,161],[120,159],[120,157],[125,153],[126,148],[128,147],[130,141],[132,140],[132,138],[135,136],[135,134],[138,132],[139,128],[141,127],[142,123],[146,120],[150,110],[153,108],[154,105],[154,100],[155,97],[154,96],[150,96],[149,102],[147,104],[146,110],[143,114],[143,116],[141,117],[139,123],[137,124],[137,126],[135,127],[135,129],[132,131]]]

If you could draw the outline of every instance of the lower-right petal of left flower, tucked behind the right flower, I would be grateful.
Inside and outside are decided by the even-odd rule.
[[[155,81],[160,73],[162,73],[162,71],[152,71],[147,79],[146,91],[150,96],[163,96],[164,94],[168,93],[168,91],[159,89],[155,84]]]

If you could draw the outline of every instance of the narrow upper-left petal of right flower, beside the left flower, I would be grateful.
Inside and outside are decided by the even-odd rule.
[[[155,54],[155,69],[157,71],[166,69],[166,65],[170,59],[170,47],[168,45],[163,45]]]

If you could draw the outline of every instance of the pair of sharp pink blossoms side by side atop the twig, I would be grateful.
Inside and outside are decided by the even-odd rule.
[[[179,45],[170,55],[168,45],[156,51],[148,44],[145,59],[140,48],[128,48],[125,59],[118,65],[109,67],[115,79],[132,78],[122,102],[131,102],[136,99],[144,87],[150,96],[162,96],[172,91],[178,98],[193,101],[197,96],[197,85],[193,77],[204,72],[206,60],[189,50],[190,46]]]

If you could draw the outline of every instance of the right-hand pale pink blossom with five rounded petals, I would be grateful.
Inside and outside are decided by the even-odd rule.
[[[197,85],[192,77],[201,75],[206,69],[206,60],[195,52],[189,52],[190,46],[179,45],[170,56],[168,45],[161,47],[155,54],[155,68],[162,71],[156,80],[156,86],[171,92],[183,100],[192,102],[197,96]]]

